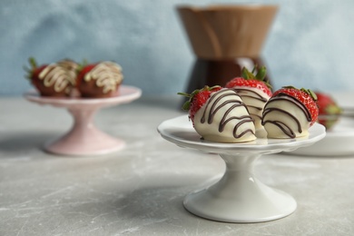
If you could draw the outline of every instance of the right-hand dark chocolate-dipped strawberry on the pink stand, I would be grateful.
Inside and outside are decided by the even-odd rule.
[[[86,64],[77,76],[77,90],[83,97],[110,97],[123,82],[122,67],[113,62]]]

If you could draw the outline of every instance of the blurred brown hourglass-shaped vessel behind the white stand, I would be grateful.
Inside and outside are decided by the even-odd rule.
[[[266,65],[261,47],[277,10],[277,5],[177,7],[197,56],[186,92],[204,85],[223,86],[241,76],[243,67]],[[269,75],[266,79],[271,82]]]

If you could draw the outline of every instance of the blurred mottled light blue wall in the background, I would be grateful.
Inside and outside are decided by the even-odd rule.
[[[2,0],[0,95],[30,89],[23,65],[63,58],[113,60],[124,84],[143,94],[183,91],[194,60],[174,7],[251,1]],[[254,3],[255,1],[252,1]],[[354,1],[257,1],[278,4],[262,55],[275,88],[354,90]]]

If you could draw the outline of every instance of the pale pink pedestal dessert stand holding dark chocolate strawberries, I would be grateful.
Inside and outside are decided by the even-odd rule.
[[[44,150],[63,155],[98,155],[121,150],[125,143],[100,131],[93,116],[101,108],[138,99],[142,91],[133,86],[121,85],[117,95],[110,98],[54,98],[38,93],[25,93],[31,102],[66,108],[74,118],[72,129],[61,138],[44,144]]]

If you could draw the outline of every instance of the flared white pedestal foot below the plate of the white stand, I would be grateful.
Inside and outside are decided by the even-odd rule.
[[[297,203],[286,192],[270,188],[251,172],[256,156],[221,155],[226,172],[208,189],[184,199],[193,214],[213,221],[261,222],[290,215]]]

